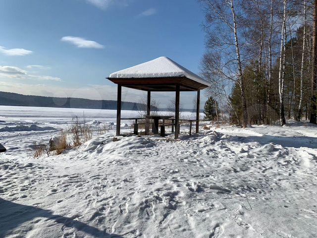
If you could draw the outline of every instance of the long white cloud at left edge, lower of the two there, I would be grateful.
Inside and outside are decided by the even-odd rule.
[[[28,71],[23,70],[16,66],[1,66],[0,65],[0,78],[15,78],[15,79],[31,79],[31,80],[43,80],[43,81],[56,81],[62,82],[58,77],[52,77],[47,75],[33,75]]]

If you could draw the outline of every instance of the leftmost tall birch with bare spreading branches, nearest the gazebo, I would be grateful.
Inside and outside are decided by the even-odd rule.
[[[243,18],[241,0],[201,0],[205,6],[207,32],[207,53],[204,60],[217,62],[211,65],[216,78],[221,78],[224,90],[229,90],[233,83],[240,86],[241,106],[243,108],[244,127],[248,125],[248,111],[243,83],[243,59],[241,53],[241,34],[239,20]],[[241,39],[241,40],[240,40]],[[206,69],[206,62],[202,62]],[[204,70],[204,69],[203,69]],[[205,70],[205,74],[208,73]],[[231,81],[231,86],[228,83]],[[225,93],[226,94],[226,93]]]

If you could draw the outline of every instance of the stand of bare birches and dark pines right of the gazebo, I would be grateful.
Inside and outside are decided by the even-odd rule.
[[[233,123],[316,123],[317,0],[200,0],[202,76]]]

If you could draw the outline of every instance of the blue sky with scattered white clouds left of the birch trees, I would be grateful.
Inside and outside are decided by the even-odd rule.
[[[197,0],[1,0],[0,91],[115,100],[106,76],[160,56],[200,73],[203,20]],[[174,94],[153,96],[164,107]]]

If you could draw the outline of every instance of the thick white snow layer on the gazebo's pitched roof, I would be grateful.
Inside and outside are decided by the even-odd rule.
[[[159,57],[155,60],[111,73],[108,78],[162,78],[182,76],[206,86],[211,86],[208,81],[167,57]]]

